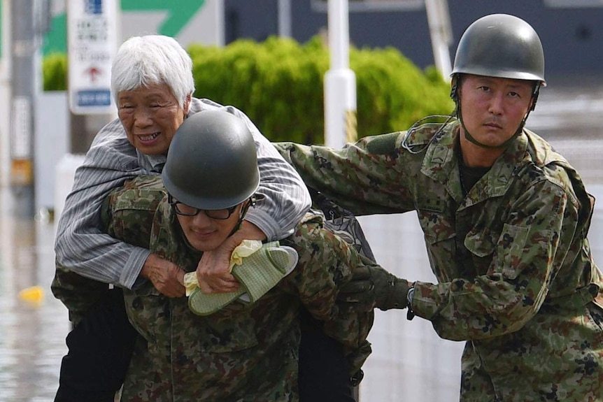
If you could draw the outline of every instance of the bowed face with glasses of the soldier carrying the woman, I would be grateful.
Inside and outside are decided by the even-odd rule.
[[[187,241],[199,251],[211,251],[218,248],[239,222],[241,205],[225,220],[208,217],[204,211],[194,216],[176,215]]]

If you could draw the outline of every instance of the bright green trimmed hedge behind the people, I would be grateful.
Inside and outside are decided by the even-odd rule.
[[[271,141],[323,143],[329,53],[319,36],[304,44],[271,37],[187,50],[194,96],[243,110]],[[65,66],[54,55],[44,60],[44,89],[65,89],[60,87]],[[420,117],[453,110],[448,83],[434,69],[421,71],[394,48],[350,48],[350,69],[356,75],[359,136],[406,129]]]

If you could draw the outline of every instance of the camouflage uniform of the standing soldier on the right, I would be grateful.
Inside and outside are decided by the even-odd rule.
[[[416,210],[437,285],[413,313],[467,340],[461,401],[600,401],[603,287],[578,173],[524,130],[467,196],[459,123],[362,138],[342,150],[276,144],[307,185],[356,215]]]

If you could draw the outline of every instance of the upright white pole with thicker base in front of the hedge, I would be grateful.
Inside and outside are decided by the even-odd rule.
[[[348,0],[328,0],[330,69],[325,73],[325,145],[356,138],[356,76],[349,66]]]

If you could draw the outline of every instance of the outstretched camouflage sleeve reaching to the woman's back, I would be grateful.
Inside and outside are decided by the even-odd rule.
[[[275,143],[308,187],[354,215],[402,213],[413,206],[399,163],[399,133],[364,137],[339,150],[318,145]]]

